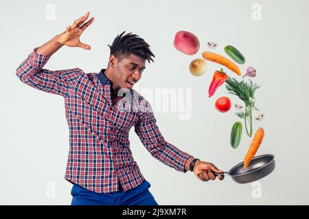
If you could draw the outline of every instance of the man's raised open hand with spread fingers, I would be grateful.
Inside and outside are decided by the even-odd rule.
[[[82,32],[89,27],[94,20],[92,17],[89,21],[87,21],[87,23],[84,23],[88,17],[89,12],[74,21],[73,25],[69,25],[67,30],[60,34],[58,42],[67,45],[68,47],[81,47],[88,50],[91,49],[88,44],[80,42],[80,35],[82,35]]]

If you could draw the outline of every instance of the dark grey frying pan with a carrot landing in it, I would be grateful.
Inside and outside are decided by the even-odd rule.
[[[237,164],[229,172],[216,173],[214,175],[229,175],[236,183],[251,183],[269,175],[275,169],[275,156],[271,154],[253,157],[246,170],[243,170],[244,162]]]

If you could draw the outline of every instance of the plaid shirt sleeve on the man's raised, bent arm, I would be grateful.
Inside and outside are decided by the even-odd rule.
[[[47,70],[43,66],[49,60],[50,55],[36,53],[37,47],[16,69],[19,79],[38,90],[66,96],[69,90],[76,85],[78,77],[82,74],[80,68],[67,70]]]

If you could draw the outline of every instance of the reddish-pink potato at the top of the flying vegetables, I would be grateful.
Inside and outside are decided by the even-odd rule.
[[[178,31],[174,38],[174,47],[181,53],[194,55],[200,49],[200,41],[188,31]]]

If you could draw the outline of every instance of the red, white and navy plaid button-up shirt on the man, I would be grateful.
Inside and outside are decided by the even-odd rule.
[[[164,140],[151,106],[143,96],[130,90],[131,99],[143,103],[133,105],[135,110],[123,110],[130,103],[122,101],[126,98],[113,106],[111,81],[105,77],[104,70],[99,74],[85,74],[80,68],[47,70],[43,66],[50,56],[40,55],[36,49],[17,68],[16,75],[28,86],[65,99],[70,144],[67,181],[104,193],[117,192],[119,183],[124,191],[137,187],[144,177],[130,151],[128,136],[133,126],[153,157],[186,172],[185,162],[192,156]]]

